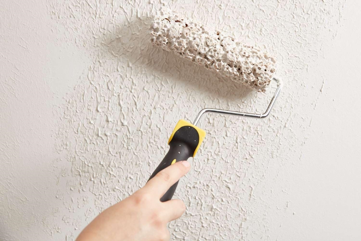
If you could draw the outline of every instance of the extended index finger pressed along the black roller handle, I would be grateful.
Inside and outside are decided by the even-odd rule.
[[[157,197],[162,197],[166,191],[181,177],[186,175],[190,169],[191,164],[189,162],[176,162],[158,172],[157,175],[145,184],[144,189],[151,191],[157,195]]]

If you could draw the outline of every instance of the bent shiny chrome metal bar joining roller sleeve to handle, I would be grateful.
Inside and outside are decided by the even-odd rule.
[[[283,86],[282,82],[278,78],[274,77],[273,79],[274,79],[274,81],[277,82],[277,89],[276,89],[265,113],[255,114],[255,113],[245,113],[245,112],[238,112],[238,111],[227,111],[224,109],[204,108],[198,113],[196,119],[193,121],[193,125],[197,125],[199,120],[203,116],[203,114],[205,114],[207,112],[217,113],[217,114],[225,114],[225,115],[234,115],[234,116],[244,116],[244,117],[251,117],[251,118],[260,118],[260,119],[267,117],[269,115],[269,113],[271,112],[271,109],[272,109],[274,103],[276,102],[279,92],[281,91],[282,86]]]

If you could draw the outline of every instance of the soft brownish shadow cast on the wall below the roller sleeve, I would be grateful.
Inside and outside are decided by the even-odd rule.
[[[257,94],[242,84],[151,44],[148,35],[150,22],[151,18],[144,16],[119,25],[114,32],[104,35],[100,46],[113,57],[125,56],[132,66],[145,68],[169,81],[183,83],[196,93],[206,92],[209,98],[220,102],[239,104],[249,95]]]

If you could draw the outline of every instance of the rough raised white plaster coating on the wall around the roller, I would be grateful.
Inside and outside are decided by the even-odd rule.
[[[322,77],[311,83],[304,82],[304,76],[315,70],[309,63],[322,55],[322,42],[336,33],[343,3],[168,5],[277,53],[277,74],[286,82],[268,119],[209,115],[201,120],[207,137],[175,194],[187,211],[170,224],[173,240],[277,239],[282,222],[273,220],[293,215],[287,182],[277,180],[277,174],[297,163],[290,156],[301,156],[296,147],[306,137],[294,130],[309,124],[310,118],[300,117],[303,104],[316,105],[322,86]],[[147,31],[160,5],[116,0],[49,3],[54,22],[68,30],[61,40],[92,56],[87,74],[57,109],[59,163],[68,160],[72,168],[58,174],[59,182],[69,188],[57,194],[61,210],[69,211],[59,211],[63,228],[44,224],[54,235],[74,239],[99,211],[143,186],[168,149],[166,141],[179,119],[192,120],[204,107],[261,112],[269,101],[268,94],[257,95],[152,46]],[[306,92],[306,85],[315,86],[313,92]]]

